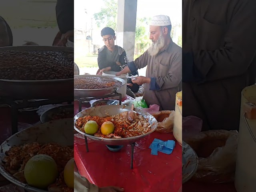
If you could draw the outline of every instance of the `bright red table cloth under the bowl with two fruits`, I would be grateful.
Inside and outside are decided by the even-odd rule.
[[[134,165],[130,169],[131,146],[111,152],[104,144],[74,137],[74,160],[82,176],[97,186],[119,186],[125,192],[178,192],[182,185],[182,147],[176,142],[172,154],[151,155],[154,140],[174,140],[172,134],[154,132],[134,146]]]

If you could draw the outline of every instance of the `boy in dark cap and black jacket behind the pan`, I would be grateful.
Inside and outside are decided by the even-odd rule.
[[[110,27],[105,27],[101,31],[105,46],[98,49],[98,66],[99,70],[97,74],[102,74],[104,71],[116,71],[120,72],[128,64],[128,58],[125,50],[115,45],[116,34]],[[129,75],[138,75],[138,70]],[[127,87],[136,93],[139,90],[139,85],[132,83],[128,78]]]

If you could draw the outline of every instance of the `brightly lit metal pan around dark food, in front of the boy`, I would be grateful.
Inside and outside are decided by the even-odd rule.
[[[105,88],[105,89],[74,89],[74,96],[79,98],[88,98],[88,97],[99,97],[99,96],[106,96],[110,95],[119,90],[121,86],[126,84],[125,80],[117,77],[110,77],[110,76],[102,76],[102,75],[75,75],[74,77],[100,77],[105,80],[118,80],[122,82],[120,86]]]

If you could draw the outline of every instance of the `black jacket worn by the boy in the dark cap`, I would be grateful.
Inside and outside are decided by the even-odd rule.
[[[98,66],[100,70],[106,67],[111,67],[112,71],[119,72],[127,66],[128,58],[126,56],[125,50],[122,47],[118,46],[118,62],[121,63],[120,66],[117,65],[116,62],[106,62],[106,50],[107,47],[105,45],[102,48],[98,49]],[[134,72],[131,75],[138,75],[138,71]]]

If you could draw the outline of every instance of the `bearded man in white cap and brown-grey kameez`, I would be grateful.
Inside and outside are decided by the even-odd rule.
[[[144,54],[116,76],[134,72],[147,66],[146,77],[138,76],[133,83],[144,84],[143,99],[149,105],[157,104],[160,110],[174,110],[175,95],[181,90],[182,48],[172,42],[170,18],[158,15],[150,23],[152,45]]]

